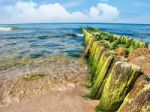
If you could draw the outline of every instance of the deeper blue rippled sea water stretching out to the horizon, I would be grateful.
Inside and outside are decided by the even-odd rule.
[[[5,24],[0,25],[0,60],[53,54],[80,56],[84,49],[81,27],[97,27],[150,43],[150,25]]]

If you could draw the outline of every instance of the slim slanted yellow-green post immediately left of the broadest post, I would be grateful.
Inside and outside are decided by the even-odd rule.
[[[99,72],[99,75],[98,75],[97,79],[95,80],[95,83],[92,87],[92,91],[90,93],[90,98],[97,99],[96,96],[100,96],[100,95],[98,95],[98,91],[102,85],[104,78],[106,77],[106,75],[109,71],[109,68],[112,64],[113,59],[114,59],[114,56],[109,56],[107,58],[107,60],[105,61],[104,65],[102,66],[102,69]]]

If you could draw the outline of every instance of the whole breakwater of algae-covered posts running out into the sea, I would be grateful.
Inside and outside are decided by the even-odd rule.
[[[88,96],[99,100],[97,111],[150,112],[149,72],[145,74],[141,66],[128,59],[137,49],[149,51],[148,44],[95,28],[83,28],[83,33],[91,70]],[[150,60],[150,55],[146,58]]]

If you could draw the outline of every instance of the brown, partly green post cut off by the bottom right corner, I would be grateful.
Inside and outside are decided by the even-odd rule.
[[[140,76],[118,112],[150,112],[150,79]]]

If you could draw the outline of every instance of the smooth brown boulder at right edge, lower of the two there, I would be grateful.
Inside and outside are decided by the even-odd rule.
[[[150,78],[150,55],[139,56],[135,59],[132,59],[130,62],[141,67],[144,75]]]

